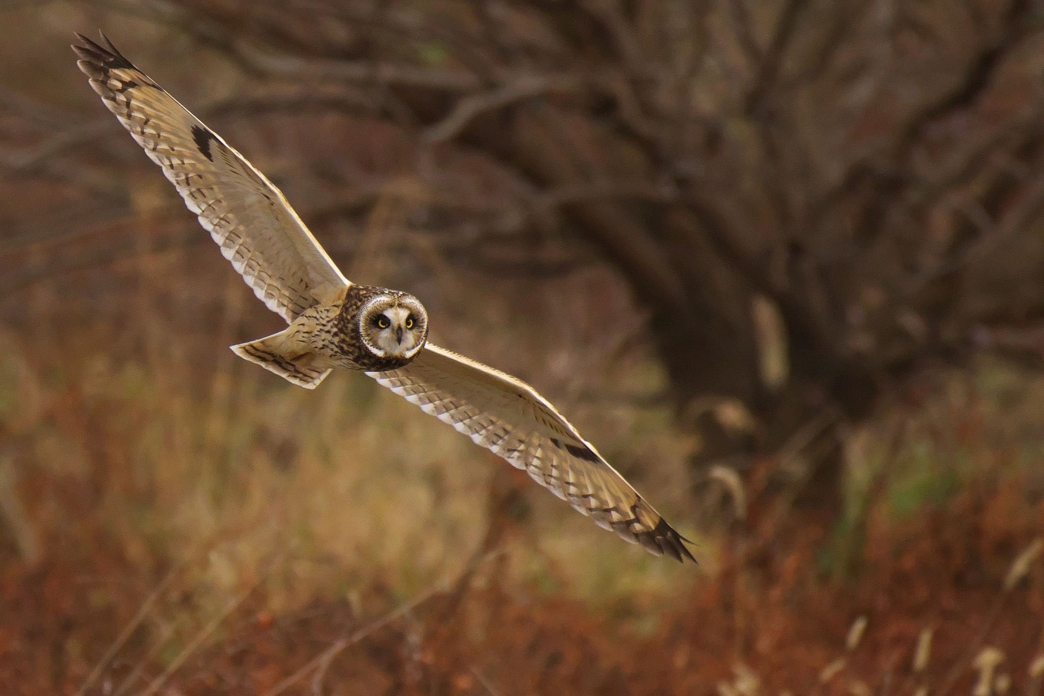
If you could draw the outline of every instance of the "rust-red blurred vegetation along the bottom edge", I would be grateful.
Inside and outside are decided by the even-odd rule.
[[[751,545],[715,578],[682,589],[648,634],[613,620],[613,611],[505,584],[498,578],[507,559],[498,555],[458,587],[459,601],[436,593],[337,651],[318,670],[323,693],[711,694],[746,669],[760,679],[760,693],[848,694],[861,682],[867,693],[912,694],[922,685],[943,693],[948,685],[967,694],[975,654],[994,645],[1005,653],[999,671],[1011,676],[1013,693],[1031,694],[1027,670],[1044,651],[1044,566],[1038,560],[1003,590],[1012,560],[1044,517],[1039,491],[1027,504],[1023,483],[959,496],[901,527],[878,521],[861,570],[839,584],[817,578],[822,534],[794,520],[786,542]],[[4,693],[75,692],[160,582],[103,545],[65,551],[31,571],[4,563]],[[112,603],[97,600],[99,587]],[[400,601],[375,585],[365,605],[392,609]],[[616,610],[648,610],[642,598],[634,602]],[[265,693],[380,616],[321,600],[272,616],[264,592],[250,592],[164,682],[172,691],[161,693]],[[846,635],[860,616],[868,627],[848,650]],[[146,621],[92,693],[140,669],[130,682],[138,693],[161,674],[172,656],[147,654],[160,625]],[[934,630],[930,658],[915,673],[915,646],[926,628]],[[841,657],[845,666],[821,683]],[[315,674],[304,671],[288,693],[311,693]]]

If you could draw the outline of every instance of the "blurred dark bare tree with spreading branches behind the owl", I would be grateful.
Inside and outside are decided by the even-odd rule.
[[[37,15],[61,24],[61,7]],[[813,487],[836,501],[841,431],[897,389],[983,353],[1040,366],[1033,0],[115,0],[79,11],[121,40],[127,27],[120,45],[256,150],[357,272],[431,278],[421,245],[490,274],[612,264],[647,312],[640,329],[683,426],[706,441],[703,461],[817,428],[804,454],[826,462]],[[73,234],[89,248],[65,265],[97,262],[130,243],[112,234],[114,203],[170,205],[146,186],[127,199],[108,175],[115,158],[75,157],[120,137],[103,115],[63,127],[67,114],[16,106],[10,163],[49,179],[52,209],[18,240],[68,247],[61,221],[93,218],[106,243]],[[54,210],[54,179],[77,207]],[[356,247],[362,236],[345,232],[389,192],[407,201],[401,220],[375,217]],[[185,243],[151,217],[167,229],[151,244]],[[376,246],[396,263],[375,263]],[[45,256],[6,287],[55,267]],[[707,408],[731,400],[748,427]]]

